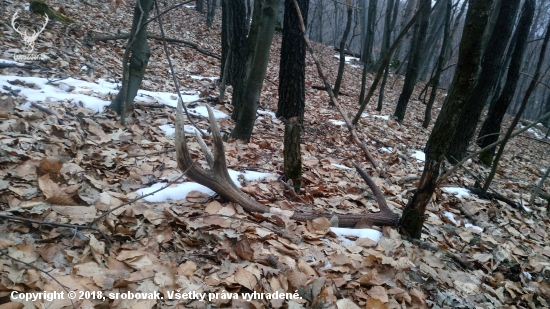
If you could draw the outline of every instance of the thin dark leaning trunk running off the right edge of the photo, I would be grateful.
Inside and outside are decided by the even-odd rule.
[[[526,10],[530,10],[530,7],[535,7],[535,0],[526,0],[525,5]],[[538,85],[538,81],[541,75],[541,68],[542,64],[544,63],[544,55],[546,54],[546,47],[548,46],[548,40],[550,39],[550,21],[548,22],[548,25],[546,27],[546,33],[544,34],[544,40],[542,41],[542,46],[540,49],[539,54],[539,60],[537,61],[537,66],[535,67],[535,74],[533,75],[533,78],[531,79],[531,82],[529,83],[529,86],[527,88],[527,91],[525,92],[525,96],[523,97],[523,100],[521,101],[521,105],[519,107],[519,110],[514,117],[514,120],[512,120],[512,124],[508,128],[508,131],[506,131],[506,135],[504,136],[504,141],[502,144],[500,144],[498,148],[498,152],[495,156],[495,159],[493,161],[493,166],[491,167],[491,172],[485,179],[485,183],[483,184],[483,193],[487,193],[487,190],[489,189],[489,186],[491,185],[491,182],[493,181],[493,178],[495,177],[497,168],[498,168],[498,162],[500,158],[502,157],[502,154],[504,153],[504,148],[506,147],[506,143],[510,139],[510,136],[514,132],[514,129],[516,125],[519,123],[519,120],[521,119],[521,115],[525,111],[525,107],[527,107],[527,102],[529,101],[529,98],[531,97],[531,94],[535,90],[535,88]]]

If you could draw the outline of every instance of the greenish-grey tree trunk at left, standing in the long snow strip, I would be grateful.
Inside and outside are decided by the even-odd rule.
[[[125,123],[127,111],[132,108],[151,56],[147,27],[142,27],[142,24],[147,20],[152,7],[153,0],[139,0],[134,8],[132,30],[123,59],[122,88],[109,105],[111,110],[120,115],[121,123]]]

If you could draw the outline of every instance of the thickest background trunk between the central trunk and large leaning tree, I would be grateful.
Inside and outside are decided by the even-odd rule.
[[[416,80],[418,78],[418,71],[420,65],[420,58],[422,57],[422,50],[424,46],[424,38],[428,31],[428,24],[430,22],[430,0],[421,0],[419,2],[418,9],[422,10],[422,15],[418,20],[418,23],[414,26],[413,39],[411,43],[411,54],[409,57],[409,64],[407,65],[407,74],[405,75],[405,83],[403,84],[403,90],[397,101],[397,107],[395,108],[394,117],[398,122],[402,122],[405,118],[405,111],[407,110],[407,104],[411,98]]]

